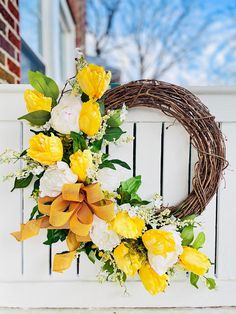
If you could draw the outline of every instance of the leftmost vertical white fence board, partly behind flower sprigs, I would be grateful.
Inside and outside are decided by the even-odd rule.
[[[0,122],[0,153],[10,148],[16,151],[21,150],[21,126],[19,122]],[[21,277],[22,259],[21,243],[17,242],[10,232],[19,230],[22,219],[22,194],[20,190],[10,194],[13,182],[3,182],[2,178],[9,172],[14,172],[18,165],[1,166],[0,176],[0,199],[1,199],[1,219],[0,219],[0,279],[16,280]]]

